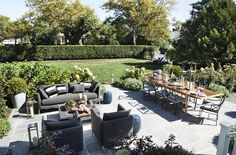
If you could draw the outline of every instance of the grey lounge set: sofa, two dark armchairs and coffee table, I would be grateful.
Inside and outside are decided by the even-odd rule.
[[[83,97],[86,96],[86,101],[81,102],[81,93]],[[111,95],[108,93],[109,97],[106,102],[111,100]],[[66,101],[69,99],[77,102],[75,107],[66,106]],[[84,104],[82,107],[86,110],[81,110],[81,103]],[[51,135],[57,147],[69,145],[70,149],[76,152],[81,152],[84,147],[84,122],[91,121],[92,133],[105,148],[117,144],[133,133],[131,110],[118,105],[117,111],[104,113],[101,117],[97,108],[98,103],[100,103],[100,96],[96,81],[91,81],[90,84],[67,83],[39,86],[39,111],[55,108],[59,111],[58,114],[48,115],[42,119],[42,133]]]

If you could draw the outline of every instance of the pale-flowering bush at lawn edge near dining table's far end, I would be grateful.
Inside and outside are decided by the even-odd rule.
[[[122,75],[121,79],[127,79],[127,78],[135,78],[135,79],[141,79],[146,74],[146,69],[144,67],[142,68],[135,68],[132,66],[130,69],[127,68],[125,70],[124,75]]]

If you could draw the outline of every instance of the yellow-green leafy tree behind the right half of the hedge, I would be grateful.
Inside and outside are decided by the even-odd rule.
[[[132,31],[133,44],[137,43],[137,37],[144,37],[152,44],[166,42],[170,37],[167,9],[155,0],[108,0],[103,7],[114,12],[110,17],[112,24]]]

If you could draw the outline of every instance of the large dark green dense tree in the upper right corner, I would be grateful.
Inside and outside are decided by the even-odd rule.
[[[201,64],[236,60],[236,4],[233,0],[202,0],[193,4],[182,27],[177,60]]]

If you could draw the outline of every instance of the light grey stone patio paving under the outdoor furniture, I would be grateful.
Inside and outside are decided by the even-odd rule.
[[[219,123],[222,121],[236,123],[236,111],[233,111],[236,109],[236,104],[229,102],[234,101],[233,98],[227,99],[223,104],[219,114],[219,123],[216,126],[215,121],[208,119],[205,119],[202,123],[202,119],[198,118],[199,105],[196,111],[193,111],[194,105],[190,104],[187,115],[181,111],[177,115],[174,115],[173,109],[162,109],[160,104],[154,104],[153,98],[143,98],[143,94],[140,91],[123,91],[110,85],[106,85],[105,87],[106,90],[112,92],[113,101],[112,104],[101,104],[97,106],[101,115],[103,112],[115,111],[119,103],[127,109],[132,109],[131,114],[138,114],[142,121],[138,136],[152,135],[152,139],[158,145],[163,145],[169,135],[173,134],[176,136],[177,143],[182,145],[183,148],[193,151],[194,154],[216,154],[217,139],[220,131]],[[37,114],[34,119],[27,119],[26,117],[13,117],[16,114],[13,110],[9,117],[12,130],[8,136],[1,139],[0,154],[4,154],[8,147],[13,150],[13,154],[32,154],[32,152],[28,151],[27,125],[37,122],[39,131],[41,131],[41,119],[43,115],[53,113],[57,112]],[[215,117],[214,115],[211,116]],[[83,130],[84,151],[82,154],[105,154],[97,143],[96,137],[92,135],[90,123],[84,124]]]

